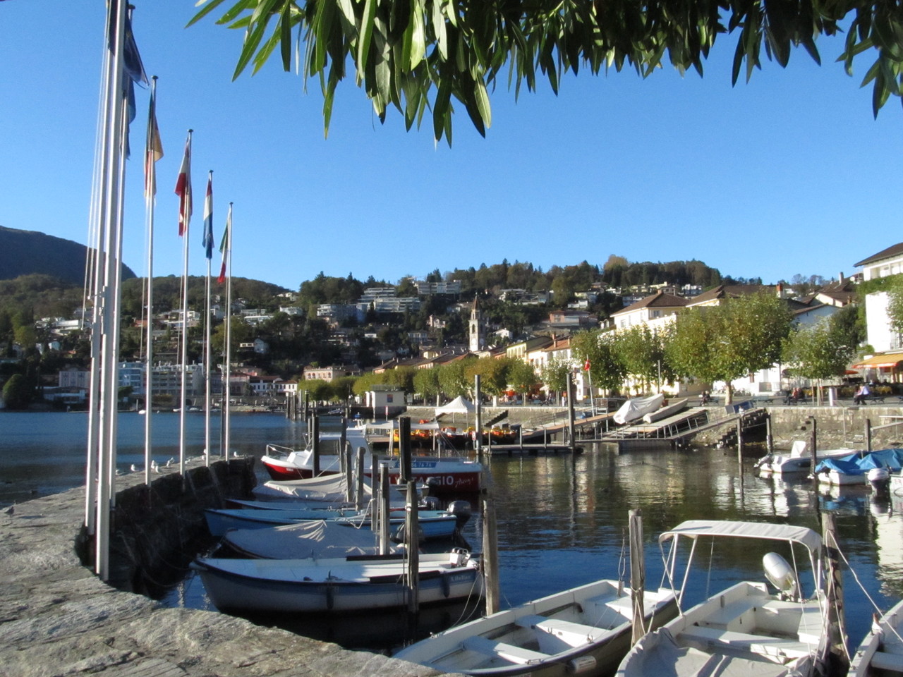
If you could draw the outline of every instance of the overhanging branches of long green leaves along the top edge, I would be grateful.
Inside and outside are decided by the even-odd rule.
[[[189,25],[224,2],[200,0]],[[380,120],[396,107],[410,129],[430,108],[436,140],[449,144],[452,97],[485,135],[489,90],[506,70],[516,97],[522,85],[536,88],[537,73],[557,92],[568,71],[629,65],[645,78],[666,55],[677,70],[702,75],[717,36],[731,33],[736,82],[761,68],[763,46],[781,66],[798,46],[820,63],[815,38],[840,22],[847,38],[838,60],[848,73],[857,54],[878,52],[862,82],[872,85],[877,115],[903,85],[903,12],[889,0],[231,0],[217,21],[245,31],[236,78],[252,63],[259,70],[277,46],[289,70],[293,39],[295,51],[305,42],[303,71],[320,79],[326,132],[350,61]]]

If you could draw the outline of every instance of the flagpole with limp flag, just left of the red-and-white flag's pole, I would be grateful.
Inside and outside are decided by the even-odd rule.
[[[163,157],[157,130],[157,77],[151,82],[151,103],[147,116],[147,141],[144,147],[144,204],[147,212],[147,349],[144,353],[144,484],[151,484],[151,449],[154,413],[154,205],[157,193],[156,162]],[[159,152],[159,154],[158,154]]]

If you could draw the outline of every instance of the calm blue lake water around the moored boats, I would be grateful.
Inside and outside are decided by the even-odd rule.
[[[215,420],[217,421],[217,420]],[[233,416],[237,450],[260,456],[265,444],[300,444],[303,424],[275,414]],[[203,448],[203,416],[188,417],[191,454]],[[0,413],[0,505],[62,491],[83,483],[87,416],[81,413]],[[154,459],[178,456],[178,414],[154,416]],[[119,467],[143,464],[144,417],[124,414],[119,422]],[[216,443],[213,449],[217,450]],[[819,509],[833,512],[841,549],[852,566],[843,575],[851,646],[868,631],[870,596],[885,610],[903,595],[903,497],[879,499],[867,487],[844,487],[815,496],[805,479],[781,481],[755,475],[754,456],[742,468],[733,450],[632,451],[590,447],[571,457],[526,456],[491,461],[498,518],[499,583],[503,606],[517,605],[629,570],[626,550],[628,510],[639,508],[646,536],[647,587],[662,576],[657,535],[686,519],[731,519],[799,524],[818,530]],[[741,471],[742,469],[742,471]],[[464,530],[479,551],[479,514]],[[764,581],[765,552],[749,542],[726,540],[727,548],[697,554],[691,601],[736,580]],[[777,547],[773,547],[777,550]],[[626,573],[625,576],[628,574]],[[858,579],[858,581],[857,581]],[[805,576],[804,576],[805,580]],[[172,606],[211,608],[200,579],[185,578],[163,596]],[[448,626],[465,613],[460,607],[432,610],[419,634]],[[271,620],[268,622],[272,622]],[[432,625],[431,625],[432,624]],[[306,635],[348,646],[389,648],[385,639],[356,628],[286,622]]]

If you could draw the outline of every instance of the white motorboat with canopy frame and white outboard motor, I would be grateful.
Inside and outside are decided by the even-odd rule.
[[[700,536],[782,542],[788,551],[802,546],[807,557],[798,558],[791,552],[791,567],[777,553],[768,552],[763,564],[777,592],[770,592],[762,582],[740,581],[687,611],[681,610],[674,620],[639,640],[620,663],[619,677],[813,675],[816,656],[826,645],[821,537],[811,529],[787,524],[684,522],[659,537],[660,545],[672,542],[666,561],[670,580],[675,580],[679,542],[689,539],[693,543],[689,571]],[[796,563],[805,559],[813,573],[810,598],[805,597],[796,574]],[[686,580],[684,576],[678,603],[684,599]]]

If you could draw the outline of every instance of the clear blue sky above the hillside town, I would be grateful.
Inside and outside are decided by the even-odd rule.
[[[330,135],[319,82],[275,62],[231,81],[241,32],[211,20],[185,29],[190,0],[136,3],[135,35],[159,76],[165,156],[157,163],[154,274],[180,274],[173,194],[186,130],[193,144],[191,274],[203,274],[203,192],[214,170],[215,237],[235,203],[233,272],[297,289],[323,271],[396,282],[434,268],[503,258],[604,264],[697,258],[722,274],[835,277],[903,240],[903,114],[891,99],[877,121],[871,57],[851,79],[819,42],[824,66],[794,52],[731,88],[734,36],[705,77],[666,67],[566,78],[492,95],[483,139],[459,107],[452,148],[432,125],[405,132],[372,114],[353,78],[339,88]],[[97,125],[105,3],[0,3],[0,225],[81,243]],[[139,90],[127,168],[125,262],[144,274],[140,149],[147,92]],[[217,268],[214,256],[214,272]]]

